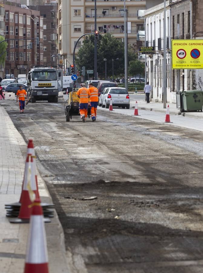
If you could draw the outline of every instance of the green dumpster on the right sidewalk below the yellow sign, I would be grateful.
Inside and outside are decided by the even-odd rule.
[[[203,91],[201,90],[188,90],[182,91],[182,108],[184,112],[201,111],[203,107]]]

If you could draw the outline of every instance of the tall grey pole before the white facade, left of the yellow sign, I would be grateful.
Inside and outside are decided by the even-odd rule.
[[[163,108],[166,108],[166,0],[164,0],[164,68],[163,68]]]

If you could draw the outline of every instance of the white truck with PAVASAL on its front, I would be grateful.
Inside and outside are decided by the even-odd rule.
[[[57,70],[49,67],[34,67],[28,72],[28,96],[36,100],[58,102]]]

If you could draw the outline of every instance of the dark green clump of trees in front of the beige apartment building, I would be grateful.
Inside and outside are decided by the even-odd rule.
[[[116,60],[117,58],[119,58],[119,60]],[[121,40],[116,39],[110,33],[99,35],[97,41],[97,72],[101,79],[104,79],[105,77],[105,61],[103,59],[107,59],[107,77],[112,77],[112,59],[114,59],[114,78],[124,75],[124,43]],[[129,47],[128,60],[135,61],[136,59],[137,54]],[[75,62],[80,71],[82,66],[85,66],[86,70],[94,70],[94,35],[86,36],[82,47],[78,50]]]

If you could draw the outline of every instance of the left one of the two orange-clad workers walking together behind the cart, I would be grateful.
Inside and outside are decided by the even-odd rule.
[[[88,98],[90,98],[90,91],[85,88],[85,84],[83,83],[83,86],[78,89],[77,96],[80,98],[80,117],[83,122],[86,121],[87,118],[87,111],[88,111]]]

